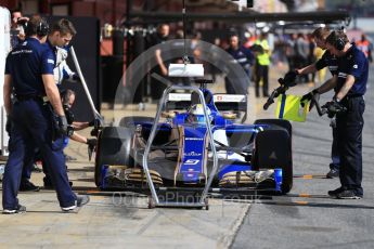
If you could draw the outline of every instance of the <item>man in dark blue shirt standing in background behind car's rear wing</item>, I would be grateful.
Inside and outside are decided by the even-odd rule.
[[[230,47],[225,50],[233,61],[230,63],[238,63],[247,77],[245,79],[235,79],[234,75],[228,75],[224,78],[225,91],[228,94],[247,94],[249,80],[250,80],[250,67],[254,65],[255,55],[249,49],[240,44],[238,35],[233,32],[229,38]]]

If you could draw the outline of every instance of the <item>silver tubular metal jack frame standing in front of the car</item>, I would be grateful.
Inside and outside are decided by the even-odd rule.
[[[203,105],[205,124],[207,128],[207,134],[209,136],[208,139],[209,139],[211,154],[212,154],[212,169],[211,169],[210,175],[207,180],[207,183],[205,184],[203,193],[202,193],[198,201],[196,201],[196,202],[160,201],[158,196],[157,196],[155,185],[152,181],[150,169],[149,169],[149,163],[147,163],[149,155],[150,155],[150,150],[151,150],[151,145],[153,143],[153,140],[155,139],[157,123],[159,121],[163,109],[165,109],[165,105],[166,105],[165,103],[166,103],[167,96],[171,91],[176,91],[176,90],[184,90],[184,91],[186,90],[186,91],[197,93],[199,101]],[[209,206],[208,206],[207,195],[208,195],[208,191],[210,188],[210,185],[212,183],[212,180],[214,180],[214,178],[218,171],[218,157],[217,157],[216,146],[215,146],[215,142],[214,142],[214,135],[212,135],[212,131],[211,131],[212,129],[211,129],[211,124],[210,124],[209,120],[210,119],[209,119],[209,116],[207,113],[207,105],[205,102],[204,94],[197,87],[171,86],[171,87],[165,89],[163,96],[158,103],[158,109],[156,113],[156,117],[155,117],[154,123],[152,126],[150,137],[147,140],[147,143],[146,143],[146,146],[144,149],[144,155],[143,155],[142,167],[143,167],[143,170],[145,172],[146,180],[147,180],[147,183],[149,183],[149,186],[151,189],[151,194],[152,194],[152,196],[149,198],[149,208],[154,208],[154,207],[204,208],[205,207],[208,210]]]

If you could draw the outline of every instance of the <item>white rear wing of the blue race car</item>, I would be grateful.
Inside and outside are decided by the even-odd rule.
[[[243,112],[241,119],[247,119],[248,102],[246,94],[214,94],[214,103],[219,112]],[[166,109],[186,109],[191,106],[191,93],[169,93],[166,102]]]

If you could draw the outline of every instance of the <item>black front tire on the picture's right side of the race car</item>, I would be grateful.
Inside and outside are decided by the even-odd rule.
[[[286,129],[271,127],[256,135],[252,165],[255,170],[282,169],[281,191],[286,194],[293,186],[293,157],[291,136]]]

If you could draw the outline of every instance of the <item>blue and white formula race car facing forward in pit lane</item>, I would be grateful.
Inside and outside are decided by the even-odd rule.
[[[288,193],[293,186],[291,123],[280,119],[235,123],[237,115],[246,115],[247,96],[214,95],[205,86],[180,87],[195,90],[192,93],[164,93],[165,109],[156,118],[125,117],[119,127],[103,128],[95,184],[102,189],[136,192],[202,189],[208,184],[209,193]],[[229,109],[234,112],[225,113]],[[160,116],[165,120],[158,122]]]

